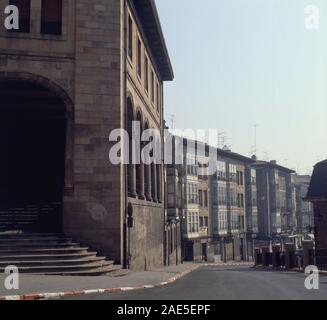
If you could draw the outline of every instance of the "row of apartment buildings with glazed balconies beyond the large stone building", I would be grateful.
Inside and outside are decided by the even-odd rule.
[[[179,143],[183,161],[167,166],[167,216],[180,221],[182,259],[248,261],[261,243],[311,233],[312,206],[303,200],[310,177],[228,148],[175,137],[181,150]],[[203,175],[209,150],[217,168]]]

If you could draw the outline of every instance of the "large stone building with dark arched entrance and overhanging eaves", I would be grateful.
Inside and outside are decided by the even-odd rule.
[[[8,4],[0,0],[1,11]],[[8,217],[1,229],[63,232],[133,269],[162,265],[162,165],[108,157],[114,129],[131,133],[139,121],[163,130],[163,82],[173,71],[155,2],[11,4],[21,16],[19,30],[0,24],[0,215],[41,209],[38,222]]]

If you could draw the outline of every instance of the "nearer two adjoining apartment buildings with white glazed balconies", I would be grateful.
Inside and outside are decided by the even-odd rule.
[[[174,139],[174,159],[176,154],[180,158],[179,164],[167,167],[168,216],[181,218],[183,259],[251,260],[258,232],[255,161],[198,141]],[[208,172],[209,157],[216,161],[213,173]]]

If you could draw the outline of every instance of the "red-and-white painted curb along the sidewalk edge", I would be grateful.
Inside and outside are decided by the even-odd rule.
[[[101,294],[101,293],[117,293],[117,292],[126,292],[126,291],[136,291],[136,290],[145,290],[145,289],[154,289],[161,288],[176,282],[177,280],[185,277],[191,272],[199,269],[201,265],[197,265],[189,270],[183,271],[176,276],[169,278],[167,281],[160,282],[155,285],[142,285],[137,287],[122,287],[122,288],[108,288],[108,289],[94,289],[94,290],[79,290],[79,291],[66,291],[66,292],[56,292],[56,293],[37,293],[37,294],[24,294],[24,295],[14,295],[14,296],[0,296],[0,300],[50,300],[50,299],[58,299],[62,297],[77,297],[89,294]]]

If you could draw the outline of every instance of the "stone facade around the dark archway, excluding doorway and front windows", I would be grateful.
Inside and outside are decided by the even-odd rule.
[[[1,0],[0,8],[8,3]],[[162,130],[162,83],[173,74],[154,1],[63,0],[62,32],[57,35],[40,32],[41,4],[31,0],[29,33],[8,32],[0,24],[0,80],[41,85],[66,107],[62,231],[135,270],[161,266],[162,166],[151,173],[156,179],[153,188],[159,190],[155,197],[149,201],[133,194],[127,199],[125,166],[113,165],[108,158],[110,132],[126,128],[128,119],[136,120],[139,114],[141,125]],[[145,92],[144,78],[136,74],[138,41],[142,64],[145,55],[154,81],[153,99],[152,92]],[[136,173],[132,178],[136,183]],[[144,184],[141,179],[138,183]],[[126,227],[128,202],[134,207],[133,228]]]

